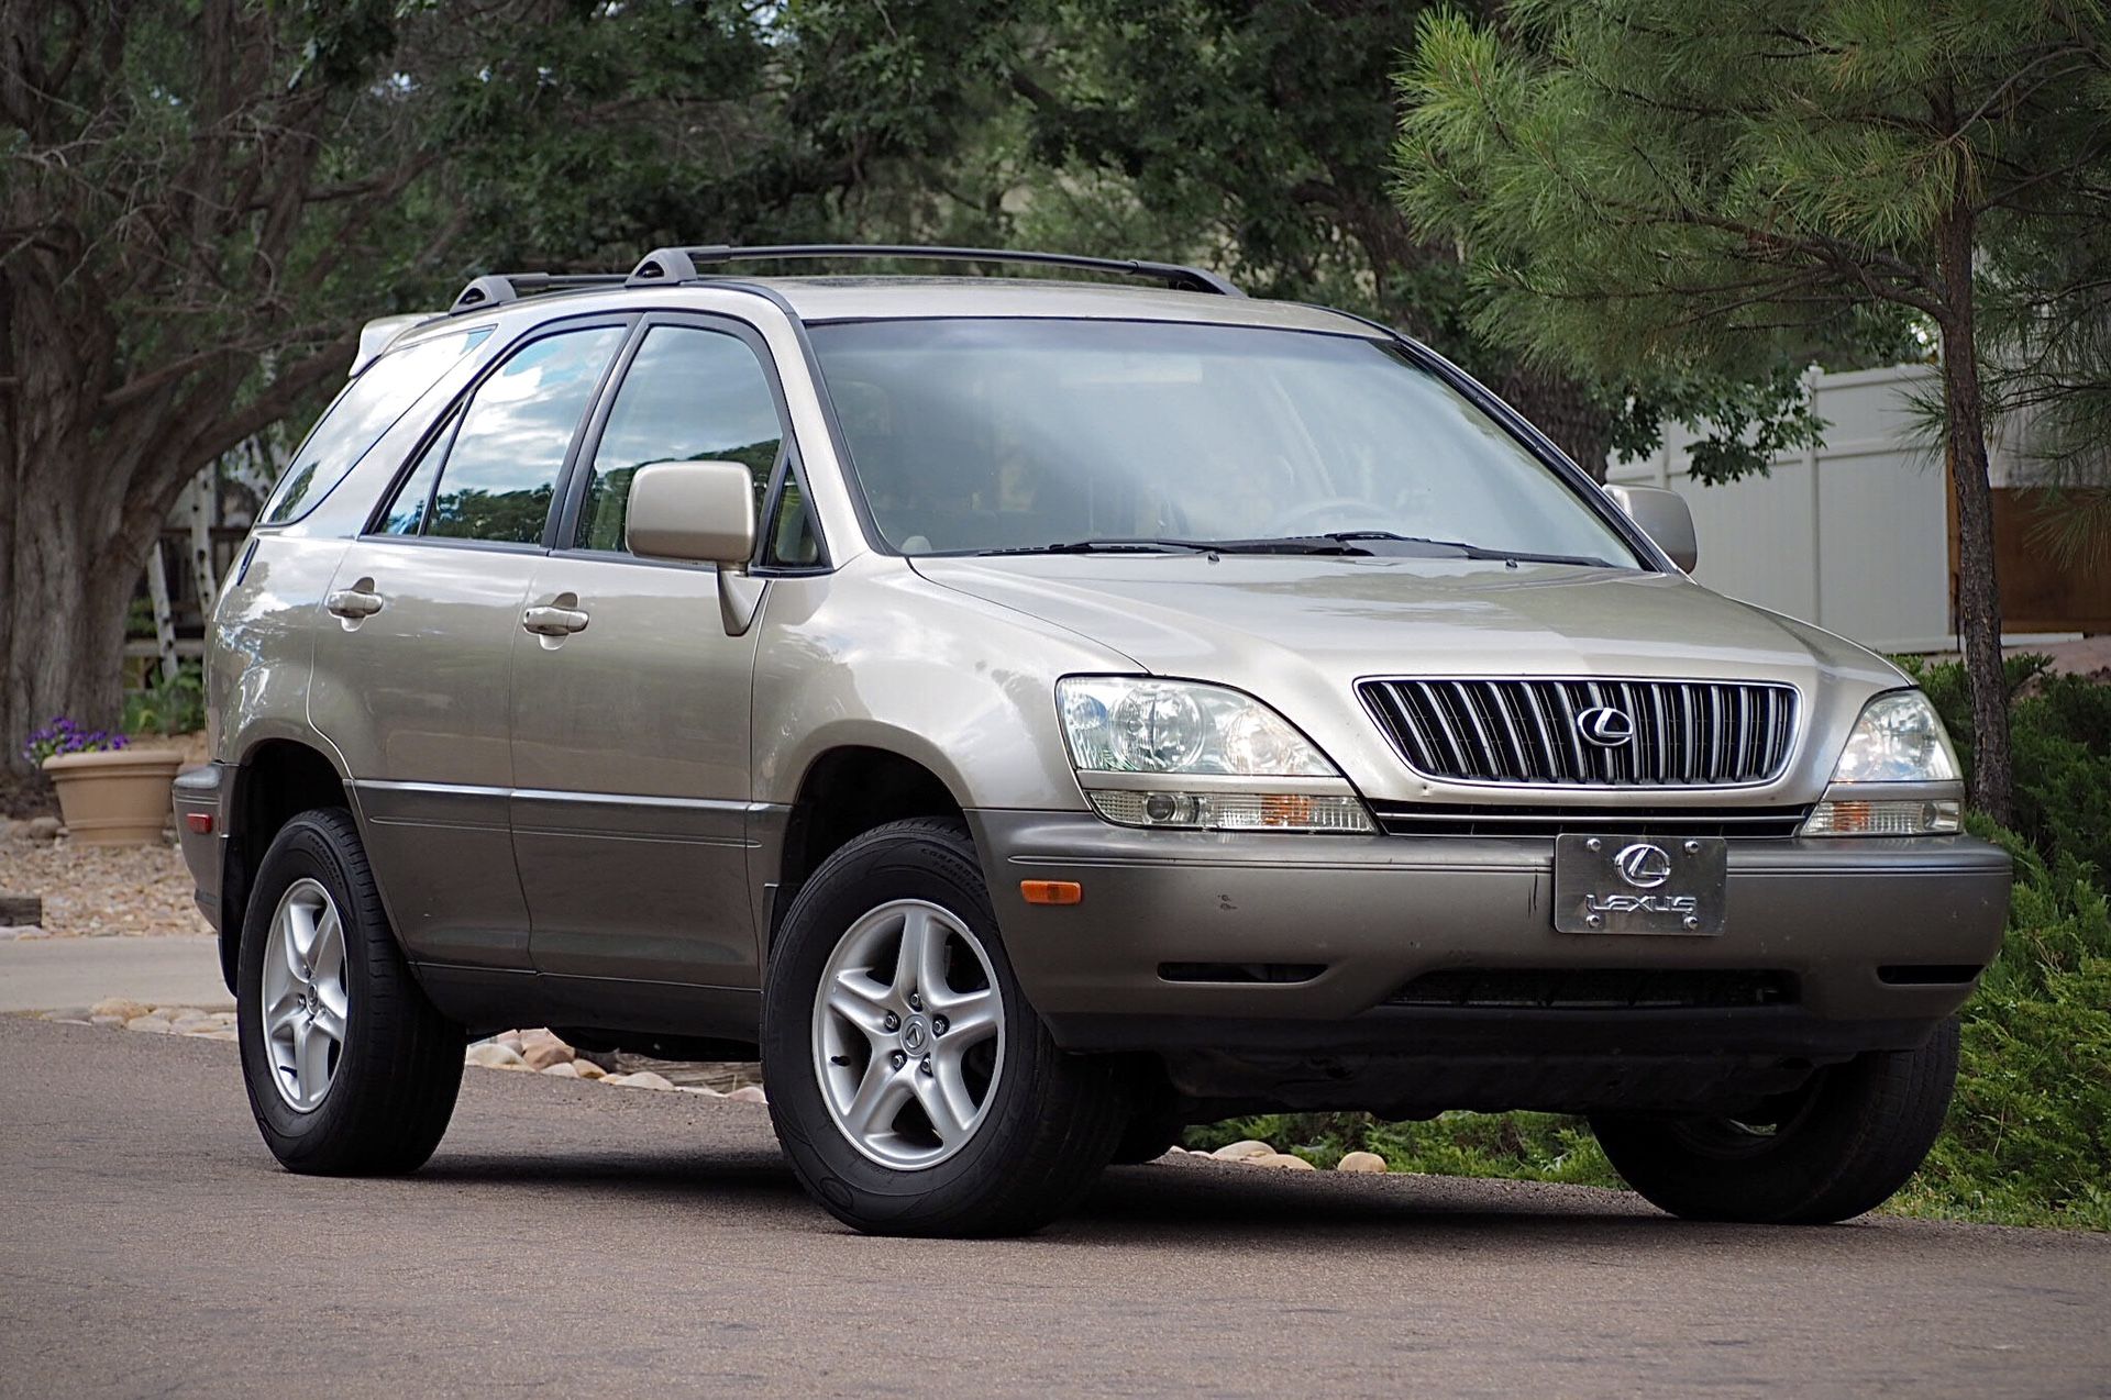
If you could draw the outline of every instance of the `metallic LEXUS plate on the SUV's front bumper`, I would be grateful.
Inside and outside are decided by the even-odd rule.
[[[1564,934],[1720,934],[1723,837],[1554,837],[1554,928]]]

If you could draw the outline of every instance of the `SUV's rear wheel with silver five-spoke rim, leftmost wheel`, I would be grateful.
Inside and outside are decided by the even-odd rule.
[[[439,1147],[462,1029],[412,978],[350,812],[302,812],[264,852],[236,1033],[249,1109],[287,1170],[393,1177]]]

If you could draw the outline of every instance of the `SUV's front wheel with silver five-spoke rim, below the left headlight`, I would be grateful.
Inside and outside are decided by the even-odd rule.
[[[882,1236],[1039,1229],[1125,1122],[1115,1063],[1064,1054],[1020,991],[958,822],[857,837],[771,949],[762,1082],[800,1185]]]

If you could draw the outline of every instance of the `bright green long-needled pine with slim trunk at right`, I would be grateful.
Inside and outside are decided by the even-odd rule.
[[[1986,264],[2100,223],[2094,0],[1518,0],[1425,17],[1404,207],[1471,251],[1482,333],[1581,373],[1782,356],[1906,318],[1940,346],[1974,801],[2012,812],[1986,479]],[[1976,264],[1980,264],[1976,268]]]

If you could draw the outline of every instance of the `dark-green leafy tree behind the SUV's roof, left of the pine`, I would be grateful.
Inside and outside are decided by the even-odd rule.
[[[866,232],[1210,264],[1258,295],[1355,310],[1488,380],[1592,472],[1676,420],[1716,477],[1813,443],[1801,363],[1573,373],[1471,325],[1457,245],[1387,198],[1397,0],[929,0],[798,6],[802,44],[863,53],[889,116],[842,215]],[[1837,348],[1875,363],[1891,348]]]

